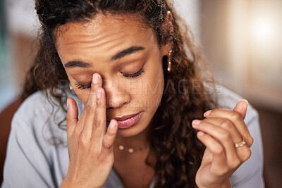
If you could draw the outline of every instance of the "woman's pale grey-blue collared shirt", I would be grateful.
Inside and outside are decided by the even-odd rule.
[[[82,102],[70,91],[67,94],[77,101],[80,117],[84,108]],[[223,88],[222,94],[218,94],[221,108],[233,109],[240,99],[243,98],[226,88]],[[42,91],[35,92],[20,105],[11,124],[2,188],[59,187],[68,171],[67,134],[66,130],[58,127],[58,123],[64,118],[66,113],[61,111],[59,105],[52,109]],[[231,184],[236,188],[264,188],[259,116],[251,105],[248,106],[245,123],[254,138],[252,156],[233,173]],[[66,121],[62,124],[66,125]],[[60,140],[63,144],[60,144]],[[50,144],[50,141],[54,143]],[[104,184],[104,188],[111,187],[123,187],[114,169]],[[152,187],[154,182],[150,188]]]

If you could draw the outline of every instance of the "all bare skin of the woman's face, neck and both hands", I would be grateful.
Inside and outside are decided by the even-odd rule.
[[[168,16],[168,23],[171,18]],[[112,58],[131,46],[143,49]],[[78,119],[78,107],[73,99],[68,99],[70,161],[60,187],[102,187],[113,165],[125,187],[144,187],[152,181],[154,172],[148,173],[145,167],[147,151],[121,153],[114,146],[119,143],[136,148],[147,144],[147,130],[164,90],[162,58],[172,46],[171,42],[159,46],[154,31],[142,25],[136,16],[97,15],[89,23],[59,27],[56,49],[63,65],[71,61],[89,64],[84,68],[66,68],[85,108]],[[142,67],[144,73],[138,77],[123,76]],[[81,90],[76,82],[91,84],[91,88]],[[214,109],[205,114],[204,120],[192,122],[200,130],[198,139],[207,146],[196,176],[198,187],[231,187],[229,177],[250,157],[252,137],[243,121],[246,111],[247,104],[241,101],[233,111]],[[118,129],[116,120],[106,126],[106,119],[138,112],[142,115],[133,127]],[[234,143],[241,142],[243,136],[247,144],[235,148]],[[140,175],[147,177],[143,180]]]

